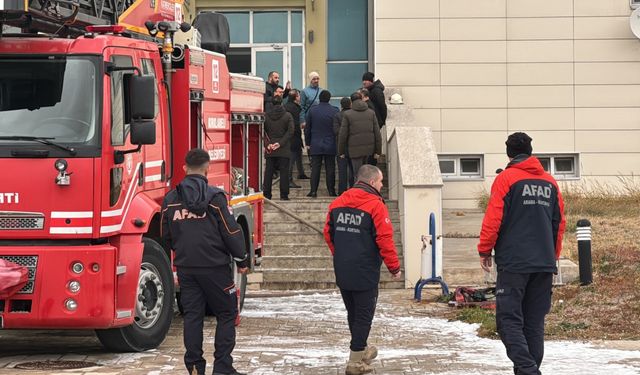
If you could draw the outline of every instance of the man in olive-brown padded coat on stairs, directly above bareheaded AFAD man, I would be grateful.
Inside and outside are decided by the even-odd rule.
[[[378,158],[382,152],[382,139],[376,114],[362,101],[360,93],[351,95],[351,109],[342,115],[338,135],[338,155],[351,159],[353,170],[367,164],[369,156]]]

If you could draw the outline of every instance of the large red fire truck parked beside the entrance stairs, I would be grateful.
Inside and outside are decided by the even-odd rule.
[[[189,27],[174,0],[98,4],[0,2],[17,31],[0,34],[0,258],[29,269],[0,300],[0,328],[94,329],[141,351],[173,316],[159,213],[189,149],[208,150],[209,183],[230,192],[259,264],[264,82],[174,44]]]

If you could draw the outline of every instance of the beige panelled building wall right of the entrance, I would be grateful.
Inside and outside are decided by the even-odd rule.
[[[473,207],[504,141],[577,153],[580,179],[640,174],[640,41],[628,0],[378,0],[375,71],[400,88],[440,153],[484,155],[484,178],[445,182],[445,207]]]

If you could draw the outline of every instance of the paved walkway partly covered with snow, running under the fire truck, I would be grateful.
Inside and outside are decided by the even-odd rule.
[[[477,337],[473,325],[435,319],[433,309],[447,307],[415,303],[411,297],[409,290],[380,294],[370,337],[380,349],[375,374],[512,373],[500,341]],[[209,361],[213,326],[211,319],[205,332]],[[344,374],[348,344],[346,313],[337,293],[248,298],[238,329],[235,365],[256,375]],[[183,354],[179,316],[167,340],[145,353],[105,353],[91,332],[0,331],[0,374],[186,374]],[[89,361],[98,366],[64,371],[15,368],[43,360]],[[640,344],[548,342],[542,371],[637,375]]]

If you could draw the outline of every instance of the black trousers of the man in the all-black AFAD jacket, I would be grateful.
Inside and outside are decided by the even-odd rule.
[[[198,374],[205,373],[207,361],[203,357],[202,329],[205,307],[208,304],[217,322],[213,370],[230,373],[233,372],[231,352],[236,345],[235,320],[238,315],[238,300],[231,269],[222,266],[203,271],[186,273],[178,269],[180,302],[184,309],[184,364],[189,373],[194,368]]]

